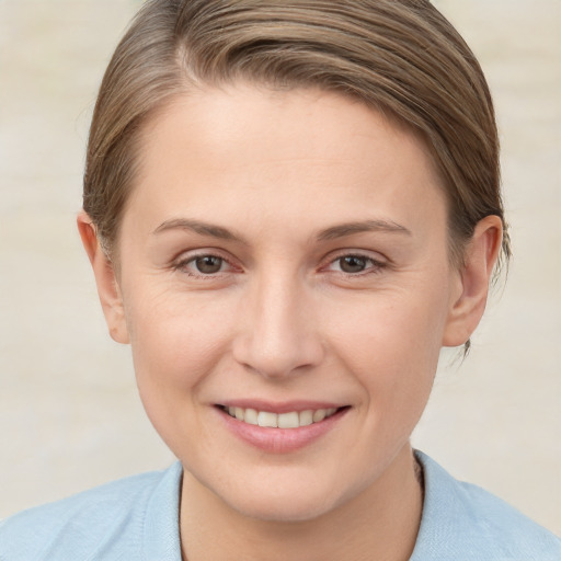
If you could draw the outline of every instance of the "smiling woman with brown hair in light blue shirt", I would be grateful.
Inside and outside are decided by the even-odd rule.
[[[180,462],[8,520],[0,559],[559,559],[409,443],[510,253],[497,154],[427,2],[147,2],[78,226]]]

